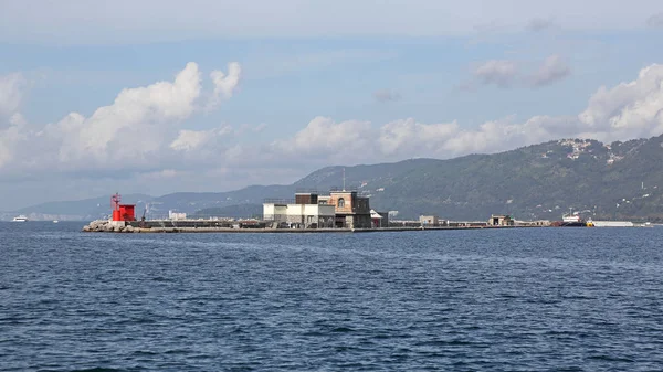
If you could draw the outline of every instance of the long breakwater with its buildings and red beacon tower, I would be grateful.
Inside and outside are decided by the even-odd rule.
[[[484,221],[446,221],[438,215],[421,215],[419,220],[390,221],[388,212],[370,209],[368,196],[355,190],[332,190],[320,195],[316,191],[298,191],[291,200],[265,200],[263,219],[187,219],[170,211],[169,219],[146,220],[145,211],[136,217],[134,204],[123,204],[120,195],[112,198],[112,219],[93,221],[83,227],[88,232],[368,232],[453,230],[485,227],[538,227],[548,221],[515,221],[508,215],[492,215]],[[284,231],[285,230],[285,231]]]

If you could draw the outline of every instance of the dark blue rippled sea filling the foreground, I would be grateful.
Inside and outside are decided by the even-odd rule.
[[[663,227],[0,223],[1,371],[663,371]]]

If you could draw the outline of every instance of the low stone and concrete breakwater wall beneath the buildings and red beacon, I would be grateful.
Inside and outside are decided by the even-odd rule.
[[[203,221],[204,222],[204,221]],[[141,226],[143,225],[143,226]],[[381,227],[381,228],[238,228],[227,224],[213,225],[182,224],[173,226],[162,221],[146,221],[125,223],[123,221],[93,221],[83,227],[83,232],[93,233],[250,233],[250,234],[312,234],[312,233],[378,233],[399,231],[434,231],[434,230],[494,230],[494,228],[533,228],[541,226],[439,226],[439,227]]]

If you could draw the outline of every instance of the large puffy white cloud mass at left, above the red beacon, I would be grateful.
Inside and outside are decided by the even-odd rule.
[[[230,98],[240,72],[236,63],[229,64],[228,75],[212,72],[214,91],[209,99]],[[22,81],[20,74],[0,77],[2,113],[18,109]],[[170,82],[123,89],[113,104],[97,108],[90,117],[73,111],[56,123],[38,127],[14,113],[7,120],[9,128],[0,131],[0,169],[17,158],[20,161],[13,163],[14,168],[23,170],[130,169],[151,167],[178,151],[196,150],[228,132],[224,128],[178,128],[202,107],[209,107],[209,102],[201,102],[201,73],[198,64],[190,62]],[[40,151],[34,152],[35,148]]]

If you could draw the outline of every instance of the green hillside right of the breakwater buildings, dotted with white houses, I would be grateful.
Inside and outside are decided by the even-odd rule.
[[[365,180],[364,189],[372,194],[371,205],[409,217],[435,213],[484,220],[504,213],[524,220],[559,220],[573,209],[594,219],[661,219],[661,144],[662,137],[611,145],[550,141],[441,160],[389,182]]]

